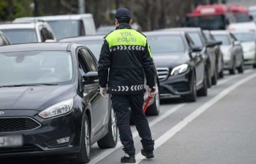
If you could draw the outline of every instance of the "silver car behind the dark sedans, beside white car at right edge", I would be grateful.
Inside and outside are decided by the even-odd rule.
[[[236,39],[233,34],[228,31],[211,31],[214,39],[221,41],[224,69],[230,71],[230,74],[236,74],[236,69],[239,73],[244,72],[244,57],[241,42]]]

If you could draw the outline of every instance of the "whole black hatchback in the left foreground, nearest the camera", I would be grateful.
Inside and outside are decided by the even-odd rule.
[[[95,142],[116,146],[116,117],[82,44],[0,47],[0,77],[0,157],[70,154],[88,163]]]

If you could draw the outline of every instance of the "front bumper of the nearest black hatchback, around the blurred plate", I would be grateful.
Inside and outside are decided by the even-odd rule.
[[[10,112],[5,111],[5,114]],[[15,117],[21,117],[12,111]],[[27,117],[39,122],[40,126],[34,130],[0,133],[0,136],[20,135],[23,137],[21,147],[0,147],[0,157],[26,156],[26,155],[60,155],[72,154],[80,150],[80,122],[81,116],[78,110],[72,110],[69,114],[60,117],[42,119],[37,111],[27,110],[22,112]],[[6,117],[12,117],[10,114]],[[56,140],[69,137],[69,141],[59,144]]]

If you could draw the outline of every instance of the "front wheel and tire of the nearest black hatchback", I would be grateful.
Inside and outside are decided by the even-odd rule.
[[[86,113],[83,114],[82,123],[80,152],[78,152],[75,161],[73,161],[73,163],[77,164],[89,163],[91,159],[91,129],[90,122]]]

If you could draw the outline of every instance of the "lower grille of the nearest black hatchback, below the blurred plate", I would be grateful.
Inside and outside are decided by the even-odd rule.
[[[35,145],[24,145],[23,147],[0,147],[0,154],[18,153],[18,152],[38,152],[42,151]]]

